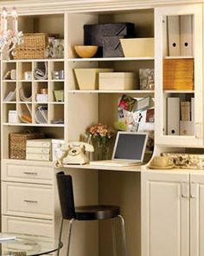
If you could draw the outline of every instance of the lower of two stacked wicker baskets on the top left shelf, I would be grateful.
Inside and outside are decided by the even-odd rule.
[[[35,48],[22,48],[16,47],[14,49],[14,59],[44,59],[45,49],[35,49]]]

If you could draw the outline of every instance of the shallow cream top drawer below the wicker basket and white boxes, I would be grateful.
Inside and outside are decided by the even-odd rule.
[[[54,168],[3,162],[2,181],[53,184]]]

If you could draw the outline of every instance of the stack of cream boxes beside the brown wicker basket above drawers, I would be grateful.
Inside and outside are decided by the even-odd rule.
[[[51,145],[51,139],[27,140],[26,159],[35,161],[50,161]]]

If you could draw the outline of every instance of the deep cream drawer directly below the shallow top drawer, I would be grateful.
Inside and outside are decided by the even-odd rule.
[[[52,220],[54,191],[49,185],[2,182],[2,213]]]

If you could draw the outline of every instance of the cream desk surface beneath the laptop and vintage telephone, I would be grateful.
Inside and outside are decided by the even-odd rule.
[[[130,167],[112,167],[112,166],[99,166],[99,165],[63,165],[65,168],[77,168],[77,169],[92,169],[92,170],[110,170],[110,171],[119,171],[119,172],[141,172],[141,165],[135,165]]]

